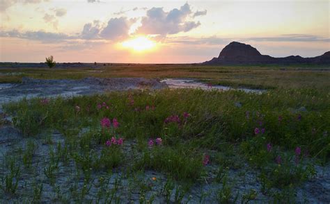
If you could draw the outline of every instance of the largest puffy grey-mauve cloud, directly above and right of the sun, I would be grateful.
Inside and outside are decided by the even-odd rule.
[[[146,17],[142,17],[141,26],[136,33],[152,35],[171,35],[180,32],[188,32],[201,25],[200,22],[188,21],[191,17],[191,9],[188,3],[180,9],[174,8],[165,12],[163,8],[151,8],[147,10]]]

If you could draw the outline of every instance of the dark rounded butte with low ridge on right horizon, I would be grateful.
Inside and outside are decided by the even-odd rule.
[[[314,58],[288,56],[274,58],[262,55],[256,48],[241,42],[230,42],[219,54],[218,58],[203,62],[204,65],[239,65],[239,64],[330,64],[330,51]]]

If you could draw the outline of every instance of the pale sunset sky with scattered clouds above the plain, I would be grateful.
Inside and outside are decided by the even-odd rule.
[[[329,0],[0,0],[0,62],[203,62],[233,41],[313,57],[329,19]]]

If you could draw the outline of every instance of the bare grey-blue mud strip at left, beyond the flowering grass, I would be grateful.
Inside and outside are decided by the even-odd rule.
[[[156,79],[146,78],[84,78],[81,80],[22,78],[21,84],[5,84],[0,87],[1,104],[19,101],[26,97],[79,96],[101,94],[107,91],[136,89],[160,89],[167,87]]]

